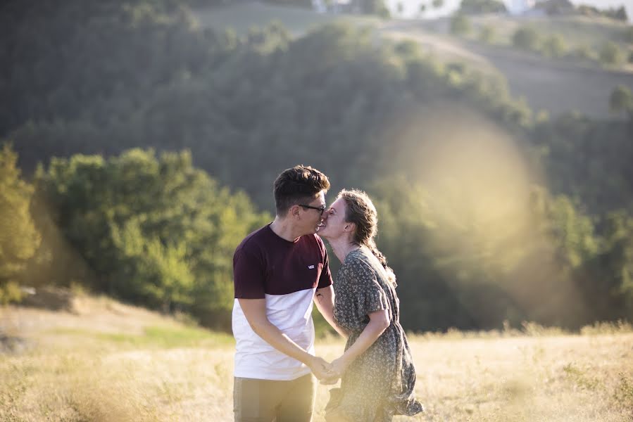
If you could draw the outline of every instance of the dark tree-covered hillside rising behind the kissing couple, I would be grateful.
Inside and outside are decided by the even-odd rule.
[[[292,39],[271,25],[237,37],[196,27],[177,0],[8,1],[0,15],[0,59],[10,63],[0,80],[0,135],[28,179],[44,163],[36,192],[57,210],[52,222],[94,271],[86,277],[96,288],[197,309],[206,324],[221,319],[230,305],[211,312],[195,300],[201,278],[230,288],[226,257],[215,266],[209,250],[217,241],[218,253],[230,254],[265,216],[239,196],[238,216],[251,223],[209,250],[199,237],[201,249],[187,250],[197,224],[225,221],[213,198],[201,199],[215,181],[192,165],[271,210],[272,180],[305,163],[327,172],[334,190],[361,187],[375,197],[379,246],[399,276],[408,328],[503,319],[575,326],[632,312],[631,122],[539,118],[503,80],[441,65],[371,28],[325,25]],[[133,147],[191,155],[118,156]],[[190,200],[175,210],[167,195],[190,179],[182,193]],[[162,198],[156,210],[149,198],[135,208],[132,196],[116,194],[128,183],[142,191],[142,180]],[[161,216],[170,227],[191,223],[189,237],[161,229]],[[213,224],[205,230],[213,238]],[[144,240],[130,250],[133,238]],[[163,267],[142,261],[144,248]],[[123,289],[121,268],[173,298]],[[187,286],[174,285],[178,274]]]

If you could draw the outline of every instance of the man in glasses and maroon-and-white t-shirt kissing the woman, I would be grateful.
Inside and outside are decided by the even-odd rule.
[[[334,326],[332,275],[316,232],[330,181],[303,165],[274,184],[276,216],[233,257],[235,421],[311,421],[315,381],[330,376],[314,355],[315,303]]]

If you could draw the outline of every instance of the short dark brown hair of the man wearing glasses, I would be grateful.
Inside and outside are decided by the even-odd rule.
[[[320,191],[327,191],[330,180],[310,166],[296,165],[277,176],[274,186],[277,215],[284,217],[292,205],[309,203]]]

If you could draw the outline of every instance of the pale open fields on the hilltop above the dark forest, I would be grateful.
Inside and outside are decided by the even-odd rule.
[[[615,40],[622,51],[628,51],[629,46],[622,39],[626,25],[606,18],[472,16],[472,36],[454,37],[449,34],[449,18],[383,21],[356,15],[325,15],[303,8],[258,2],[196,9],[195,15],[203,27],[232,28],[238,34],[271,22],[281,23],[294,36],[301,36],[315,25],[330,22],[374,27],[389,37],[418,41],[425,51],[445,62],[458,61],[483,72],[499,72],[508,80],[513,96],[523,97],[534,110],[546,110],[551,115],[578,111],[591,117],[610,118],[613,117],[608,108],[611,91],[618,84],[633,89],[633,65],[630,63],[617,68],[601,68],[510,47],[513,32],[521,25],[532,25],[541,34],[563,34],[569,49],[584,45],[597,48],[601,43]],[[484,25],[495,28],[494,45],[477,42],[476,34]]]

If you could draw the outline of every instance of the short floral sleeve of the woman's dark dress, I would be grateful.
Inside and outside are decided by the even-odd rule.
[[[389,309],[387,293],[384,292],[374,271],[364,262],[356,262],[349,268],[356,287],[356,306],[359,316]]]

